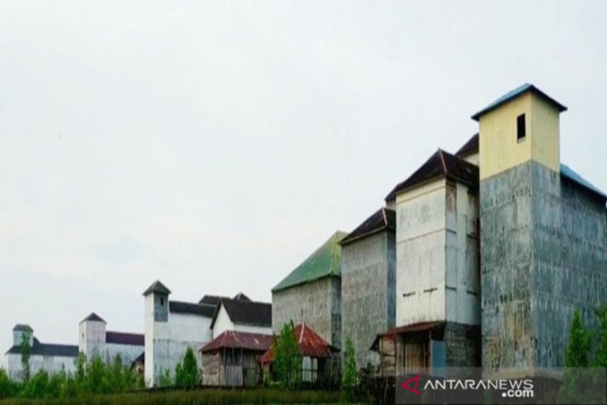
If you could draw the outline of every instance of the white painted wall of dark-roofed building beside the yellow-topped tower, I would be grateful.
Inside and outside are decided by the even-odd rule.
[[[480,324],[478,197],[435,182],[396,197],[396,325]]]

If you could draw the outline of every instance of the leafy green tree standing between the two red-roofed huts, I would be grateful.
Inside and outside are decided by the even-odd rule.
[[[274,369],[283,389],[293,389],[301,383],[302,356],[295,336],[293,321],[283,325],[274,342]]]

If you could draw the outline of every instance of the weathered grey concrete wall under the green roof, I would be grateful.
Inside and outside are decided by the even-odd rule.
[[[305,322],[327,342],[341,347],[341,279],[322,279],[272,293],[272,330]]]

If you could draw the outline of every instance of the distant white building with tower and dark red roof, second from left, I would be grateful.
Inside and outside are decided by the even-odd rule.
[[[120,355],[123,364],[131,364],[144,352],[144,335],[106,330],[106,321],[94,312],[80,321],[79,329],[78,346],[87,359],[100,355],[104,362],[111,362]]]

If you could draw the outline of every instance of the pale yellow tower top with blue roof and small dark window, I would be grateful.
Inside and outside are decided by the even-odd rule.
[[[480,179],[529,160],[558,172],[558,117],[566,109],[527,83],[473,115],[479,123]]]

